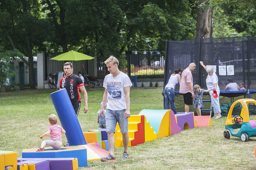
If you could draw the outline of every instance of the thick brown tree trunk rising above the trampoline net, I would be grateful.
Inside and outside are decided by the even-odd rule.
[[[200,4],[204,3],[205,0],[200,0]],[[209,4],[206,3],[206,7]],[[213,27],[212,27],[212,14],[213,9],[200,7],[197,15],[197,35],[196,38],[211,38]]]

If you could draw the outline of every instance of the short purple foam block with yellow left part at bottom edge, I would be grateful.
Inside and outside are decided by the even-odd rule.
[[[19,163],[28,164],[28,170],[50,170],[48,160],[27,160]]]

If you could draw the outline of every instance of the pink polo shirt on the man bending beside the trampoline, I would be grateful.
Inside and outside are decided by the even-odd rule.
[[[181,79],[180,79],[180,93],[188,93],[190,91],[189,86],[187,83],[191,82],[192,89],[193,89],[193,77],[191,70],[189,68],[184,69],[181,74]]]

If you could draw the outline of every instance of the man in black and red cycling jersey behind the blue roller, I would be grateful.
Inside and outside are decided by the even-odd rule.
[[[84,108],[83,112],[87,113],[88,111],[88,96],[87,92],[85,90],[85,87],[83,85],[83,81],[80,77],[73,74],[73,64],[71,62],[65,62],[63,65],[65,76],[63,76],[59,81],[59,89],[65,88],[69,94],[69,99],[73,105],[73,108],[75,110],[76,116],[78,116],[80,107],[81,107],[81,97],[79,93],[79,89],[83,93],[84,98]]]

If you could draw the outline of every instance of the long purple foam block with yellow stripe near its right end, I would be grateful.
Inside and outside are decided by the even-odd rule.
[[[43,161],[47,160],[50,164],[50,170],[78,170],[78,158],[18,158],[19,164],[27,160]],[[22,170],[22,169],[20,169]]]

